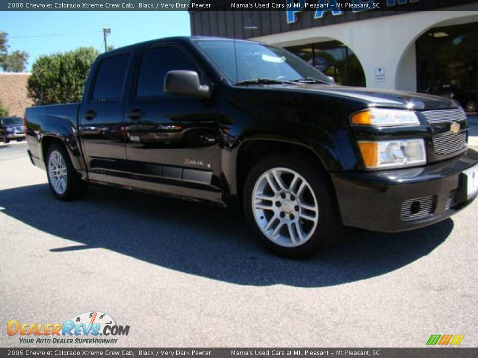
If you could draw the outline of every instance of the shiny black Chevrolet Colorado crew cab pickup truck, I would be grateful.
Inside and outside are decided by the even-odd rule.
[[[28,155],[58,199],[95,183],[238,201],[260,242],[289,257],[343,225],[436,223],[478,193],[456,101],[338,86],[251,41],[177,37],[107,52],[82,103],[28,108],[26,125]]]

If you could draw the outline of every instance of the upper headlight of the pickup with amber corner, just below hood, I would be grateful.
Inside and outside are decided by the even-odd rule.
[[[353,125],[402,126],[419,125],[415,112],[400,109],[369,108],[350,117]]]

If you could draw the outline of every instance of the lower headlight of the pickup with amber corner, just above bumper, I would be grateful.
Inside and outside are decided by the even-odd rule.
[[[368,169],[411,167],[427,163],[423,139],[359,142]]]

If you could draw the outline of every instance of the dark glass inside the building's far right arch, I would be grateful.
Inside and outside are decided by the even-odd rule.
[[[437,27],[416,41],[417,90],[477,111],[478,23]]]

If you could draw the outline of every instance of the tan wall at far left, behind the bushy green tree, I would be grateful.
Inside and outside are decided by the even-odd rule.
[[[23,117],[25,108],[33,104],[26,89],[29,76],[29,73],[0,73],[0,101],[9,115]]]

